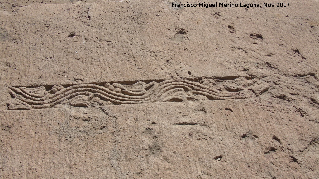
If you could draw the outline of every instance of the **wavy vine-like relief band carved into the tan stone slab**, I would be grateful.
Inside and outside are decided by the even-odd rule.
[[[204,84],[204,83],[203,83]],[[61,104],[75,107],[103,106],[111,104],[143,104],[154,102],[182,102],[200,100],[223,100],[251,97],[248,89],[215,90],[208,85],[188,80],[166,80],[163,82],[137,82],[135,84],[105,83],[78,84],[64,88],[11,87],[11,103],[8,110],[30,110],[55,108]]]

